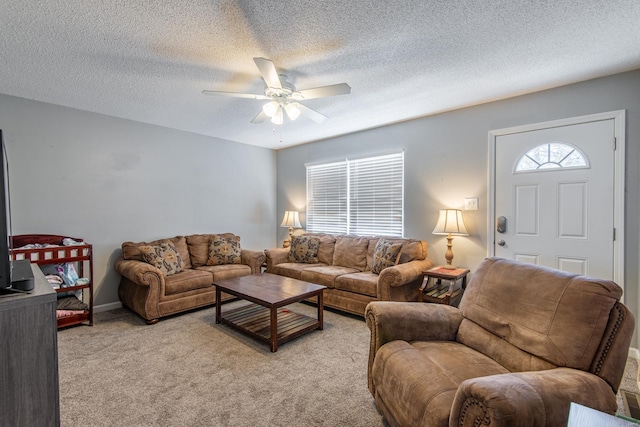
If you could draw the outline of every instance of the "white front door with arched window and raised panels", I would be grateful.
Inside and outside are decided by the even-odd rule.
[[[616,125],[495,134],[495,256],[616,279]]]

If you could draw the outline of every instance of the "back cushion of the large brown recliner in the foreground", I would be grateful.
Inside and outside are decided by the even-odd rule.
[[[458,340],[496,360],[514,346],[553,365],[588,371],[621,296],[609,280],[488,258],[473,274],[460,310],[500,339],[471,342],[474,334],[459,333]],[[512,363],[512,370],[530,368]]]

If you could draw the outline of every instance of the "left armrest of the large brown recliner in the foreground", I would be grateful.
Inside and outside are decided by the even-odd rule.
[[[371,330],[369,390],[375,396],[371,369],[380,347],[395,341],[455,341],[462,322],[460,310],[444,304],[373,301],[364,311]]]

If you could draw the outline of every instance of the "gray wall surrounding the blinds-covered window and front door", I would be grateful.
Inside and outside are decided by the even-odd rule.
[[[454,264],[472,270],[487,255],[488,132],[530,123],[626,110],[625,302],[638,317],[640,241],[640,71],[496,101],[278,151],[277,218],[305,205],[305,163],[405,151],[405,235],[429,242],[444,263],[446,240],[431,234],[438,209],[463,208],[469,237],[453,241]],[[304,226],[304,215],[301,215]],[[286,230],[277,228],[278,238]]]

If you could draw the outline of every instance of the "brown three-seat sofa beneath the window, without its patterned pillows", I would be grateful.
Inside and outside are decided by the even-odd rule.
[[[318,262],[289,261],[289,248],[268,249],[267,272],[324,285],[324,305],[364,315],[371,301],[418,301],[422,272],[433,266],[424,240],[387,238],[402,243],[398,264],[371,271],[379,236],[306,233],[320,238]]]

